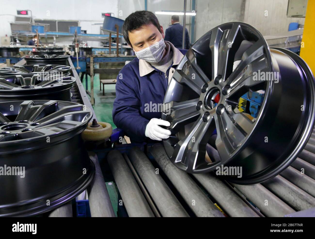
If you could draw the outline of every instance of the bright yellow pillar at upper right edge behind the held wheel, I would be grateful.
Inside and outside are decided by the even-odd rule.
[[[315,0],[308,0],[300,56],[315,74]],[[304,45],[304,47],[303,47]]]

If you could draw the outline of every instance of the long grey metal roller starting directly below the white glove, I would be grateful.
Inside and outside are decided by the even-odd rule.
[[[161,144],[155,144],[151,154],[197,217],[224,217],[192,178],[171,163]]]

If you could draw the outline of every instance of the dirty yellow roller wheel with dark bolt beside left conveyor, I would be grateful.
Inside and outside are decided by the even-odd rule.
[[[96,141],[105,140],[112,135],[113,129],[110,123],[106,122],[89,122],[88,127],[83,131],[82,137],[84,140]]]

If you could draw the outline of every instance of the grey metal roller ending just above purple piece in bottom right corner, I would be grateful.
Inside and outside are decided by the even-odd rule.
[[[315,207],[315,198],[296,187],[282,176],[276,176],[266,182],[263,182],[267,189],[284,200],[297,211]]]

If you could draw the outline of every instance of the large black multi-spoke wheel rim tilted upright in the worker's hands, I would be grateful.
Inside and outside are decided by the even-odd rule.
[[[251,45],[233,71],[244,40]],[[279,174],[295,160],[314,124],[314,78],[298,58],[286,51],[269,50],[261,34],[245,23],[222,24],[203,35],[178,65],[165,95],[164,103],[169,103],[171,113],[163,112],[162,119],[171,122],[172,135],[163,143],[170,160],[189,173],[213,171],[222,164],[242,167],[241,178],[226,176],[240,184],[262,182]],[[258,70],[279,72],[280,80],[255,81],[253,73]],[[299,86],[292,88],[296,84]],[[238,99],[257,90],[264,90],[265,97],[258,116],[250,120],[236,112]],[[217,93],[220,101],[213,105]],[[290,99],[292,94],[295,102]],[[304,111],[301,105],[305,105]],[[290,114],[295,117],[283,119]],[[285,125],[290,125],[290,130]],[[213,146],[218,155],[206,162],[206,147],[215,129]]]

